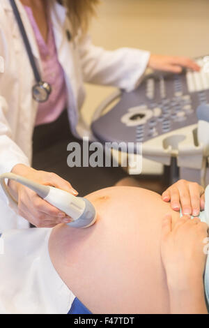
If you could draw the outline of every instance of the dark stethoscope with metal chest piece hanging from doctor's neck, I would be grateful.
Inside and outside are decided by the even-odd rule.
[[[31,45],[29,43],[29,39],[26,35],[26,31],[24,29],[24,25],[22,23],[22,19],[20,17],[19,10],[17,8],[17,5],[15,3],[15,0],[10,0],[11,6],[13,8],[13,12],[15,14],[15,18],[17,20],[18,27],[20,29],[20,32],[22,34],[22,38],[24,40],[24,45],[26,47],[26,52],[29,56],[29,61],[31,63],[31,67],[33,69],[33,74],[36,79],[36,84],[32,88],[32,94],[33,94],[33,99],[36,100],[38,103],[44,103],[45,101],[48,100],[49,95],[52,92],[52,87],[49,83],[43,82],[41,80],[40,74],[38,72],[38,68],[36,66],[36,62],[33,58],[33,53],[31,50]]]

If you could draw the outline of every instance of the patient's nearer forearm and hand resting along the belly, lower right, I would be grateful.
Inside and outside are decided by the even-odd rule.
[[[208,313],[203,272],[206,253],[203,240],[208,225],[199,218],[183,216],[172,228],[171,216],[162,221],[161,254],[167,273],[171,313]]]

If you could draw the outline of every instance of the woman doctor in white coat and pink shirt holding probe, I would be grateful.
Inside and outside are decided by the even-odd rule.
[[[19,23],[14,3],[21,17]],[[0,75],[0,174],[13,172],[77,195],[68,181],[31,167],[34,128],[36,133],[39,126],[47,129],[56,124],[67,108],[72,135],[91,137],[79,114],[85,98],[84,82],[132,91],[147,66],[174,73],[180,73],[183,66],[199,70],[194,61],[185,57],[128,48],[109,52],[95,47],[86,36],[86,29],[97,3],[98,0],[0,1],[0,55],[5,62]],[[69,222],[70,218],[29,189],[12,181],[8,184],[18,200],[19,216],[8,207],[1,191],[1,217],[6,220],[0,221],[0,232],[26,228],[29,222],[38,227]]]

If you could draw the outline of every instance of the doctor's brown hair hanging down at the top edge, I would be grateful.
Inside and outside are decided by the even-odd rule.
[[[98,3],[100,3],[100,0],[63,0],[72,24],[73,37],[77,35],[79,29],[82,33],[86,33],[91,17],[95,15],[95,7]]]

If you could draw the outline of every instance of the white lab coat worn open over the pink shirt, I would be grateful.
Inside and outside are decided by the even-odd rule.
[[[20,0],[16,0],[29,37],[33,56],[42,73],[40,55],[33,29]],[[59,61],[68,90],[68,117],[75,135],[90,135],[79,110],[84,103],[84,82],[112,85],[127,91],[137,87],[148,64],[149,52],[121,48],[105,51],[91,44],[88,36],[70,42],[66,29],[70,22],[65,8],[51,0],[51,18]],[[32,135],[38,103],[32,98],[35,84],[20,30],[9,0],[0,1],[0,55],[5,71],[0,73],[0,174],[10,172],[17,163],[31,165]],[[8,228],[26,228],[26,220],[17,217],[0,193],[0,232]],[[5,219],[6,218],[6,219]]]

